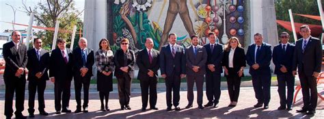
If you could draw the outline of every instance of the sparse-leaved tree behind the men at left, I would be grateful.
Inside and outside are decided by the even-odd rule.
[[[72,33],[74,25],[82,23],[78,17],[82,12],[75,9],[74,1],[72,0],[46,0],[46,2],[39,2],[37,6],[31,8],[23,1],[23,9],[30,15],[35,13],[35,22],[42,27],[55,27],[56,21],[59,20],[59,29],[64,29]],[[82,23],[83,24],[83,23]],[[83,26],[83,25],[77,25]],[[71,33],[59,32],[57,38],[64,38],[70,44]],[[44,47],[51,48],[53,42],[54,31],[38,31],[36,36],[43,39]]]

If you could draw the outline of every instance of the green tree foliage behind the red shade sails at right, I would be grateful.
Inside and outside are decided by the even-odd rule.
[[[321,1],[322,5],[324,5],[324,1]],[[310,14],[319,16],[319,7],[317,2],[314,0],[277,0],[275,1],[275,15],[278,20],[282,21],[291,21],[289,18],[288,10],[291,9],[295,14]],[[306,18],[303,16],[293,15],[295,23],[306,23],[312,25],[321,25],[320,21],[316,21],[311,18]],[[298,28],[296,28],[298,29]],[[287,31],[291,34],[291,42],[293,42],[293,32],[284,29],[284,27],[278,25],[278,34],[282,31]]]

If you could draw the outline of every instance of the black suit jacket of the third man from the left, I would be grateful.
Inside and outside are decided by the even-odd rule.
[[[54,49],[51,53],[50,65],[49,65],[49,77],[55,77],[55,82],[68,79],[72,80],[73,77],[73,59],[72,50],[66,48],[68,52],[68,64],[65,63],[64,57],[60,49]]]

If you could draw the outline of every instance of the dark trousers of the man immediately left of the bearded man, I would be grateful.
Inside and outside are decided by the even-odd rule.
[[[172,72],[172,75],[165,77],[166,100],[167,107],[172,107],[172,90],[173,90],[173,105],[177,107],[180,101],[180,75]]]

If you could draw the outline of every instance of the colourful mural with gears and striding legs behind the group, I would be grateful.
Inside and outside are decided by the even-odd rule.
[[[190,45],[193,34],[204,45],[210,32],[221,44],[236,36],[244,45],[244,8],[244,0],[115,0],[111,48],[119,49],[120,40],[128,38],[130,49],[137,52],[152,38],[154,49],[160,49],[170,33],[177,34],[177,44],[183,47]]]

